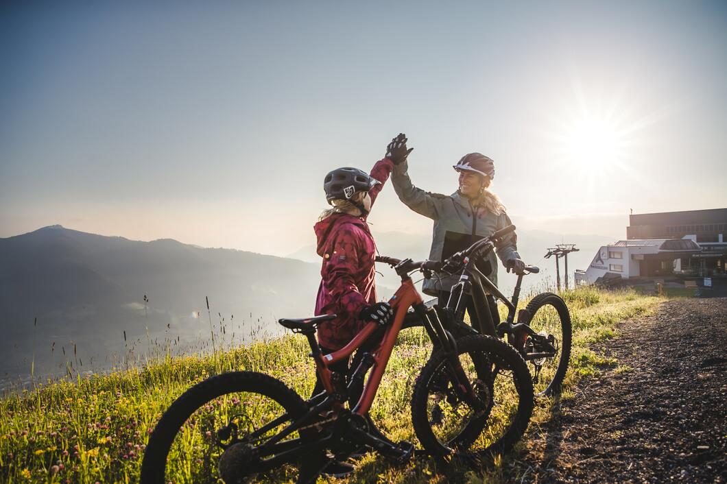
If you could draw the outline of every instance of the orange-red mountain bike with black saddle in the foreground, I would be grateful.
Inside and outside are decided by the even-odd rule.
[[[368,412],[411,307],[433,341],[411,401],[415,432],[425,451],[478,461],[509,450],[520,439],[533,409],[526,363],[509,344],[473,334],[454,339],[432,308],[425,307],[410,273],[428,261],[398,262],[401,286],[390,299],[393,323],[366,326],[342,349],[322,354],[316,326],[336,315],[281,319],[282,326],[308,339],[324,391],[303,400],[271,376],[234,371],[200,382],[169,406],[151,433],[141,467],[143,484],[225,483],[263,480],[315,482],[332,459],[361,448],[402,464],[414,445],[395,443],[375,427]],[[349,375],[329,369],[373,342]],[[353,408],[352,388],[364,381]]]

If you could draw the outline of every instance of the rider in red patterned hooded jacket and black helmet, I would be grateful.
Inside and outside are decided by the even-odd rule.
[[[389,178],[393,163],[401,163],[409,151],[406,150],[406,137],[399,134],[388,145],[385,158],[374,164],[371,174],[345,167],[326,175],[324,190],[332,209],[324,211],[313,227],[318,239],[317,252],[323,258],[316,315],[336,314],[337,318],[318,326],[318,344],[324,354],[340,350],[371,320],[382,326],[393,320],[392,307],[387,302],[377,302],[376,244],[366,218]],[[350,368],[358,365],[366,347],[374,343],[361,347],[350,367],[344,360],[329,368],[348,376]],[[323,385],[317,379],[313,395],[322,390]],[[362,391],[363,384],[351,390],[351,407],[356,405]],[[350,464],[332,460],[324,474],[342,477],[352,471]]]

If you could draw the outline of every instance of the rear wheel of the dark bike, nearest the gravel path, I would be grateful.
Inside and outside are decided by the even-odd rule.
[[[537,339],[526,338],[524,350],[533,375],[537,395],[554,395],[561,390],[571,358],[571,315],[566,302],[558,294],[538,294],[528,303],[530,327],[555,347],[555,355],[528,359],[528,354],[542,352]]]

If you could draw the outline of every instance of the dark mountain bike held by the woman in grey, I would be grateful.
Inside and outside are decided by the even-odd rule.
[[[513,231],[515,226],[510,225],[500,233],[505,230]],[[494,235],[473,243],[441,263],[429,262],[426,265],[428,272],[425,275],[430,278],[435,277],[435,273],[461,274],[459,281],[451,288],[449,300],[444,304],[438,302],[438,312],[444,326],[457,338],[480,333],[498,338],[507,335],[507,341],[521,353],[531,367],[536,394],[553,395],[561,388],[571,355],[572,329],[568,306],[558,294],[546,292],[532,298],[525,309],[518,311],[523,276],[538,273],[539,268],[526,266],[525,273],[518,275],[513,296],[507,299],[476,265],[494,249],[498,239]],[[497,328],[486,300],[488,293],[507,307],[507,319],[499,323]],[[474,309],[480,331],[463,322],[468,306]],[[404,327],[420,324],[418,315],[410,312]]]

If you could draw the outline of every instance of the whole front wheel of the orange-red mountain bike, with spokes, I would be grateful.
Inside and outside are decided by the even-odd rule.
[[[533,411],[533,385],[521,355],[492,336],[457,340],[457,357],[483,403],[473,406],[459,398],[449,361],[435,352],[422,369],[411,399],[414,432],[434,455],[470,451],[494,456],[513,448]]]

